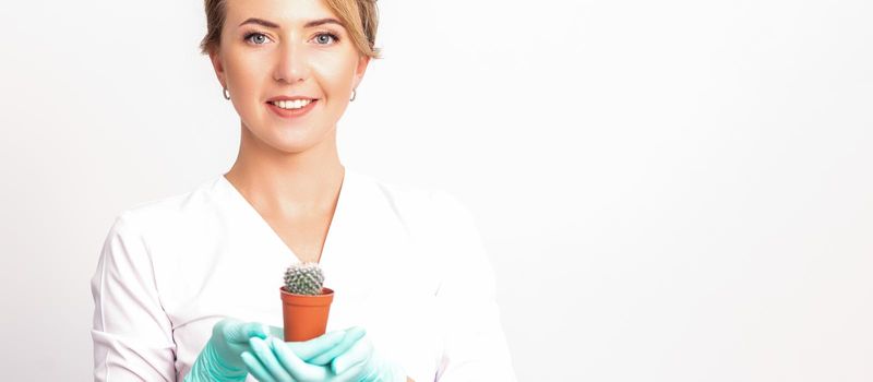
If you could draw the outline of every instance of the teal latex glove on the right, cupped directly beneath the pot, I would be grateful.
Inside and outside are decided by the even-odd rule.
[[[380,356],[362,327],[344,332],[335,346],[318,346],[308,353],[297,350],[306,342],[251,338],[251,353],[243,351],[241,358],[259,381],[406,382],[403,368]]]

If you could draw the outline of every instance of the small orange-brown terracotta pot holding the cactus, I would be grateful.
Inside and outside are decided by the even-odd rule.
[[[334,290],[321,288],[321,295],[296,295],[279,287],[282,293],[282,315],[285,341],[300,342],[315,338],[325,333]]]

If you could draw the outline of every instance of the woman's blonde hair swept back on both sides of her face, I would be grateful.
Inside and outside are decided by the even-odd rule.
[[[362,55],[382,58],[382,49],[375,47],[375,33],[379,27],[378,0],[323,0],[327,8],[339,17],[349,38]],[[204,0],[206,11],[206,36],[200,41],[200,52],[208,55],[218,49],[222,27],[225,24],[226,0]]]

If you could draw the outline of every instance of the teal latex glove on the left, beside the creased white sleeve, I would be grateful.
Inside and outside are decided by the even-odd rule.
[[[266,338],[268,327],[256,322],[224,319],[212,327],[212,337],[200,351],[186,382],[244,381],[248,371],[240,358],[249,338]]]

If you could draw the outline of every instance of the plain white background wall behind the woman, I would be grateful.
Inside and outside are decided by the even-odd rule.
[[[873,380],[873,2],[379,3],[340,159],[474,212],[519,381]],[[0,12],[4,379],[91,379],[113,217],[232,164],[204,32]]]

